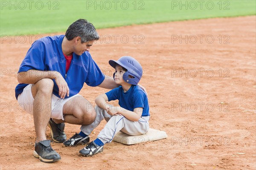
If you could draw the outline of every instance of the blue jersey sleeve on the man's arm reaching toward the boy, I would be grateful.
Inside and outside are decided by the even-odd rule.
[[[88,66],[88,74],[85,80],[85,83],[89,86],[95,87],[100,85],[105,79],[105,75],[99,69],[99,66],[92,59],[90,55],[89,66]]]

